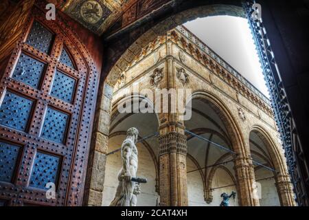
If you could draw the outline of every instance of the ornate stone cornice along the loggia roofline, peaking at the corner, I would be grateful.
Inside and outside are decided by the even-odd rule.
[[[197,38],[194,36],[194,41],[196,41],[196,39]],[[141,51],[141,54],[136,56],[133,62],[130,63],[128,69],[139,65],[139,63],[142,62],[144,58],[151,56],[153,52],[161,50],[161,47],[163,47],[167,42],[172,42],[180,47],[181,50],[184,50],[192,58],[198,61],[198,63],[201,63],[201,65],[209,69],[209,72],[218,76],[221,80],[227,83],[227,85],[235,89],[236,92],[244,96],[244,98],[247,98],[257,107],[273,117],[273,110],[268,98],[266,98],[260,91],[258,91],[258,89],[255,89],[251,83],[249,83],[246,79],[244,79],[244,77],[238,74],[238,72],[232,69],[225,61],[222,60],[222,58],[214,54],[214,52],[212,52],[209,47],[207,47],[205,44],[202,45],[201,41],[194,43],[192,39],[190,40],[188,36],[179,30],[179,28],[171,30],[165,36],[159,36],[155,41],[144,47]],[[207,50],[209,50],[208,54],[206,52]],[[166,56],[159,57],[157,63],[155,63],[153,67],[145,70],[133,80],[137,80],[137,78],[144,76],[144,74],[147,74],[150,69],[157,67],[166,58]],[[173,59],[178,61],[178,58],[176,57],[173,57]],[[133,80],[126,82],[126,85],[132,83]],[[117,93],[117,91],[115,92]]]

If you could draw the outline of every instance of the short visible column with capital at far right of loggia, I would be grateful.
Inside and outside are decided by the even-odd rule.
[[[290,176],[277,175],[275,180],[281,206],[296,206]]]

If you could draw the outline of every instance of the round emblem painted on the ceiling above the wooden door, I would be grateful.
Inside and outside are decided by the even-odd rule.
[[[97,23],[103,15],[103,9],[97,1],[85,1],[80,7],[80,15],[87,23]]]

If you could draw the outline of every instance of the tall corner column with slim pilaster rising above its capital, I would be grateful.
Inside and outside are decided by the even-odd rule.
[[[161,89],[177,89],[172,56],[172,41],[168,34],[166,43],[166,76]],[[176,91],[176,90],[175,90]],[[176,91],[177,93],[177,91]],[[176,94],[174,94],[176,95]],[[172,95],[171,95],[172,96]],[[159,113],[159,195],[160,206],[187,206],[187,137],[183,122],[179,120],[177,96],[168,98],[168,113]],[[156,97],[157,98],[157,97]],[[174,100],[174,102],[172,101]]]

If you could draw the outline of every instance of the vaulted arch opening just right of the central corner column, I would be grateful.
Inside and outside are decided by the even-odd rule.
[[[236,198],[230,199],[230,206],[240,206],[240,190],[235,169],[236,155],[218,148],[225,146],[229,151],[239,142],[233,124],[223,112],[224,104],[206,92],[192,95],[192,118],[185,121],[187,134],[187,189],[189,206],[220,206],[223,192],[236,192]],[[197,136],[194,136],[198,135]],[[209,142],[199,138],[203,137]],[[239,145],[238,145],[239,146]],[[203,192],[203,200],[201,199]],[[239,199],[238,199],[239,198]]]

